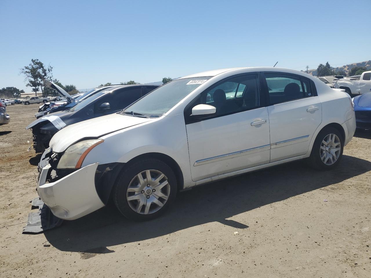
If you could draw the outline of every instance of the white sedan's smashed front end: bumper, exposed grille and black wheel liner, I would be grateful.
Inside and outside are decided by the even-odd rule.
[[[49,148],[39,163],[37,193],[60,219],[73,220],[105,206],[123,163],[92,163],[79,169],[58,169],[63,153]]]

